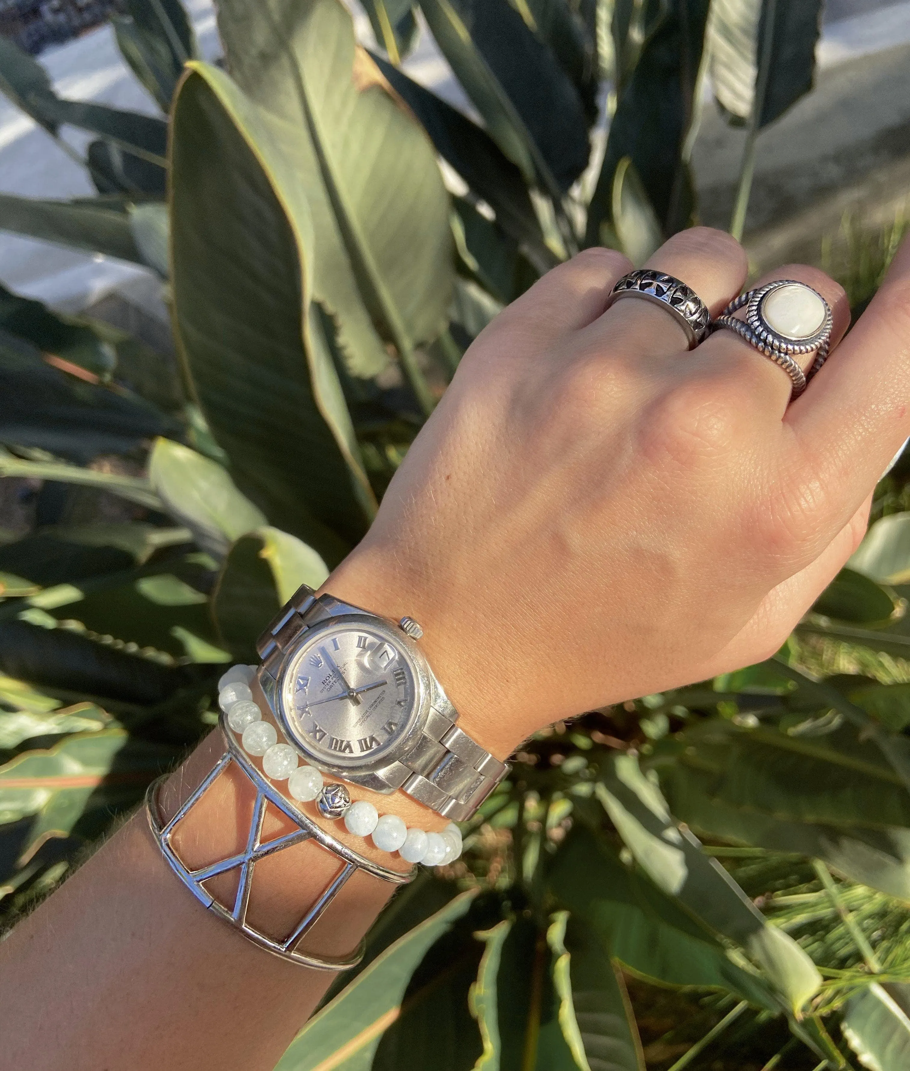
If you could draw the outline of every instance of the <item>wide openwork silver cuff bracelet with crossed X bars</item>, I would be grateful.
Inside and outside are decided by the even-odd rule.
[[[162,854],[173,873],[204,907],[208,907],[219,919],[228,922],[236,930],[240,931],[244,937],[260,948],[284,960],[290,960],[304,967],[315,967],[320,970],[344,970],[347,967],[355,966],[363,959],[365,947],[363,940],[360,941],[359,946],[349,955],[338,957],[313,955],[301,951],[299,945],[307,932],[316,924],[317,920],[348,878],[357,871],[365,871],[367,874],[371,874],[374,877],[381,878],[383,881],[389,881],[392,885],[407,885],[413,880],[416,868],[412,868],[410,871],[404,873],[390,870],[358,855],[358,853],[352,851],[349,847],[342,844],[340,841],[337,841],[331,833],[327,833],[321,826],[304,814],[299,808],[294,806],[273,784],[262,776],[244,754],[231,729],[225,724],[224,715],[222,715],[218,724],[227,743],[227,751],[206,775],[201,784],[193,790],[173,817],[166,824],[162,823],[158,806],[158,791],[165,779],[160,778],[149,786],[149,790],[146,794],[146,813],[149,819],[149,828]],[[253,808],[253,819],[249,824],[246,847],[238,855],[230,856],[227,859],[218,859],[206,866],[191,870],[180,856],[178,856],[172,844],[175,830],[195,804],[199,802],[206,790],[231,763],[237,764],[256,789],[256,802]],[[297,826],[297,830],[263,843],[262,826],[269,804],[272,804],[282,814],[290,818]],[[338,860],[339,866],[332,880],[306,909],[291,932],[284,938],[270,937],[268,934],[254,929],[246,921],[246,908],[249,902],[253,870],[257,860],[273,855],[276,851],[282,851],[293,844],[300,844],[302,841],[313,841],[320,848],[331,853]],[[234,869],[240,870],[240,880],[233,904],[227,906],[215,900],[206,890],[203,883],[216,874],[224,874]]]

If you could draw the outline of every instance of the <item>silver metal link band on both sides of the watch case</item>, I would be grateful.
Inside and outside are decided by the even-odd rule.
[[[344,605],[330,594],[317,598],[302,585],[257,642],[263,672],[277,679],[285,653],[300,634],[328,620],[333,607]],[[445,818],[467,821],[511,767],[459,729],[457,716],[430,707],[416,745],[398,759],[400,782],[390,782],[390,787],[400,788]]]

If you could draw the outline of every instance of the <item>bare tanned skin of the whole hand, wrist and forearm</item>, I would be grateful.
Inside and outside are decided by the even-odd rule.
[[[773,653],[859,543],[910,435],[910,245],[792,405],[785,373],[729,331],[686,352],[666,312],[636,300],[605,312],[630,267],[587,251],[483,332],[325,585],[415,617],[461,726],[499,757],[558,719]],[[703,228],[650,267],[713,314],[746,274],[740,246]],[[814,286],[843,336],[835,283],[800,266],[773,277]],[[216,739],[200,745],[166,813],[219,754]],[[378,802],[409,825],[445,824],[400,794]],[[221,779],[179,849],[199,864],[239,850],[251,806],[245,782]],[[330,874],[315,853],[257,864],[253,921],[293,924]],[[346,886],[319,950],[350,950],[389,892]],[[34,1071],[267,1071],[331,977],[203,911],[139,815],[0,946],[0,1035],[10,1066]]]

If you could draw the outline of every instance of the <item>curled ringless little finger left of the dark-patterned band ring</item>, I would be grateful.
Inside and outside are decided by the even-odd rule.
[[[496,330],[553,342],[595,320],[606,307],[617,280],[632,271],[632,261],[616,250],[585,250],[559,265],[494,321]]]

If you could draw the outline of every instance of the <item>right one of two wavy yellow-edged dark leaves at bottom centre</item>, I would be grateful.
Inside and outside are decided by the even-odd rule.
[[[558,911],[547,931],[559,1023],[581,1071],[644,1071],[644,1054],[622,974],[588,927]]]

